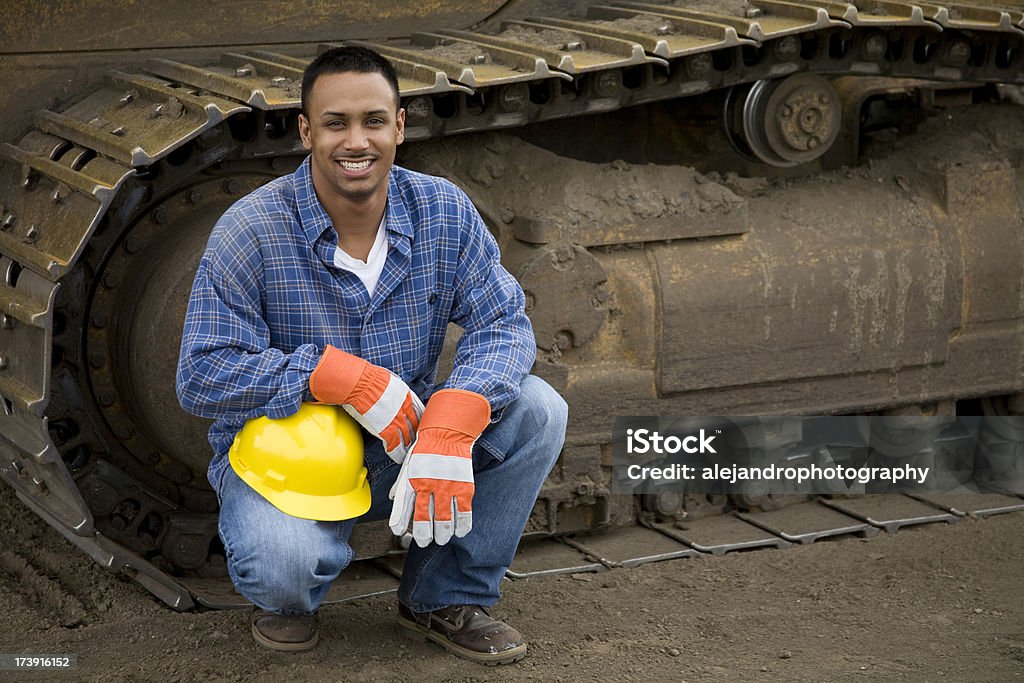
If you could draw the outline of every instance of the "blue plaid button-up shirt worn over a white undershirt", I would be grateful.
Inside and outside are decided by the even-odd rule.
[[[283,418],[309,399],[327,344],[387,368],[426,400],[451,321],[465,330],[445,387],[482,394],[495,419],[518,397],[537,354],[519,284],[465,193],[393,166],[387,260],[371,297],[334,265],[338,237],[309,159],[217,221],[185,313],[177,393],[210,429],[215,486],[247,420]]]

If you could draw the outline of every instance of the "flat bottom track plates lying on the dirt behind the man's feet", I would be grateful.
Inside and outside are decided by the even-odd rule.
[[[977,494],[878,495],[850,501],[815,500],[781,510],[733,512],[684,522],[644,521],[608,533],[554,537],[520,544],[505,577],[511,581],[628,569],[666,560],[720,556],[749,550],[782,549],[822,539],[870,539],[921,524],[952,524],[965,519],[1024,511],[1024,498]],[[401,556],[360,560],[345,570],[345,581],[328,592],[327,604],[393,593],[401,579]],[[250,603],[223,581],[184,579],[204,607],[244,609]]]

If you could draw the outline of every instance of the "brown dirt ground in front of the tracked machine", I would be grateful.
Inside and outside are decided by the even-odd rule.
[[[393,596],[322,610],[309,653],[245,611],[174,612],[0,486],[0,653],[76,654],[2,681],[1024,680],[1024,513],[786,550],[510,582],[529,640],[499,669],[401,637]]]

